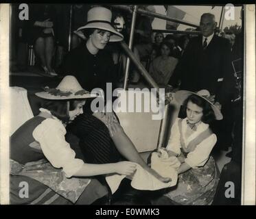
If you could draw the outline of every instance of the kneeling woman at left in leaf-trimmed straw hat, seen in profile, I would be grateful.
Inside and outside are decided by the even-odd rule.
[[[91,204],[108,191],[87,177],[135,172],[132,162],[86,164],[75,158],[65,140],[65,126],[83,113],[86,99],[95,97],[75,77],[66,76],[57,88],[36,96],[49,101],[10,139],[11,204]]]

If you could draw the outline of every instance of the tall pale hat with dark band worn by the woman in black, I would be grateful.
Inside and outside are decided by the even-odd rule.
[[[91,8],[87,13],[86,25],[79,27],[77,31],[82,29],[103,29],[109,31],[112,35],[110,36],[109,42],[119,42],[124,39],[124,36],[120,34],[111,25],[112,12],[107,8],[95,7]]]

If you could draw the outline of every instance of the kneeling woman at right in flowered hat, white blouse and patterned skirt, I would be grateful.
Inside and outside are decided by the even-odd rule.
[[[169,156],[176,156],[181,162],[179,179],[155,204],[211,205],[219,171],[210,156],[217,138],[209,123],[221,120],[222,114],[207,90],[180,90],[175,99],[184,106],[186,116],[176,119],[166,149]]]

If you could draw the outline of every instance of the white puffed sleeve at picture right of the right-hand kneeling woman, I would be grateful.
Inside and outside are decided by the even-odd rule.
[[[213,146],[217,142],[217,137],[215,134],[211,134],[207,139],[203,140],[194,151],[187,154],[185,163],[187,163],[191,168],[204,166],[207,162]]]

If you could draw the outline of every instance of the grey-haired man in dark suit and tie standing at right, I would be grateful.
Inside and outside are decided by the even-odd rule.
[[[224,120],[213,125],[213,131],[219,133],[218,142],[222,142],[222,145],[230,145],[232,118],[229,115],[235,77],[232,71],[229,40],[214,34],[216,25],[213,14],[202,14],[200,19],[202,35],[191,38],[169,83],[172,86],[180,83],[180,90],[206,89],[211,95],[216,95],[216,101],[222,105]],[[226,137],[227,135],[229,138]]]

